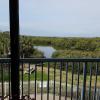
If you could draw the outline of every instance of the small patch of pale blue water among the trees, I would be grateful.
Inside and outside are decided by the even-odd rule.
[[[52,54],[56,51],[52,46],[34,46],[34,48],[42,51],[46,58],[51,58]]]

